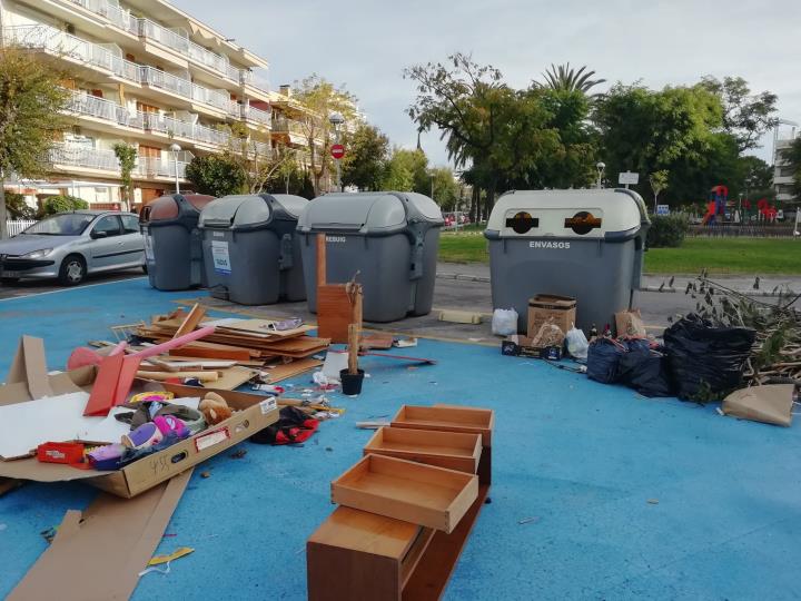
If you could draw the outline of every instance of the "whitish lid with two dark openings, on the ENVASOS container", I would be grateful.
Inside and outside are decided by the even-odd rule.
[[[647,225],[633,190],[516,190],[498,198],[488,238],[625,238]]]

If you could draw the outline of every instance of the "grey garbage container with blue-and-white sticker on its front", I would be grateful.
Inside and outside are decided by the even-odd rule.
[[[240,305],[304,300],[295,229],[306,198],[287,194],[225,196],[200,213],[209,293]]]

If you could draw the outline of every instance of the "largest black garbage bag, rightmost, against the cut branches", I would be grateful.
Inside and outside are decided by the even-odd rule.
[[[719,327],[695,314],[665,329],[668,372],[679,397],[706,401],[740,387],[755,336],[751,328]]]

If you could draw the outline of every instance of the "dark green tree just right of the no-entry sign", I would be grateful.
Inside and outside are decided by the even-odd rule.
[[[377,127],[360,124],[343,141],[347,149],[342,159],[343,185],[380,189],[389,160],[389,139]]]

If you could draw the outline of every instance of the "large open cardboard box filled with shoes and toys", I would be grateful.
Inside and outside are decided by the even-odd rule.
[[[91,390],[96,373],[93,367],[48,376],[43,351],[41,353],[38,351],[41,341],[24,338],[27,339],[20,343],[21,352],[14,358],[8,383],[0,386],[0,404],[20,403],[40,397],[32,394],[34,386],[31,382],[34,381],[31,381],[30,377],[40,377],[39,386],[47,385],[53,395]],[[43,345],[41,347],[43,348]],[[138,381],[131,392],[166,388],[175,392],[176,396],[184,397],[202,396],[209,391],[209,388],[165,386]],[[78,470],[70,465],[41,463],[36,457],[28,457],[0,461],[0,477],[38,482],[82,480],[87,484],[117,496],[130,499],[243,442],[259,430],[278,421],[278,406],[275,398],[233,391],[215,392],[220,394],[231,408],[237,410],[228,420],[159,453],[130,463],[121,470],[113,472]]]

